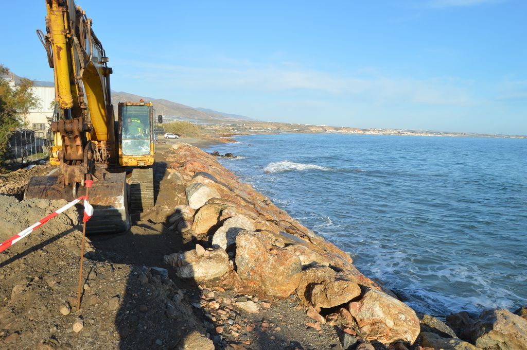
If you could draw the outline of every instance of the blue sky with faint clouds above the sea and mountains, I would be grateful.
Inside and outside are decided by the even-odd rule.
[[[112,88],[268,121],[527,134],[527,2],[78,0]],[[53,80],[44,0],[6,2],[0,63]]]

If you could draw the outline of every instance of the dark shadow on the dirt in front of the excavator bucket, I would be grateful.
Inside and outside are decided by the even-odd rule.
[[[147,222],[122,234],[90,238],[93,259],[132,266],[115,317],[121,349],[174,348],[194,330],[211,332],[200,321],[204,315],[188,301],[196,295],[199,299],[198,285],[179,279],[163,263],[164,255],[190,249],[181,232]]]

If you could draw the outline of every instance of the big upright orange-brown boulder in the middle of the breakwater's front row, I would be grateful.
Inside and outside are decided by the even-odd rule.
[[[300,259],[275,249],[265,234],[242,232],[236,237],[236,268],[240,278],[255,291],[288,297],[300,281]]]

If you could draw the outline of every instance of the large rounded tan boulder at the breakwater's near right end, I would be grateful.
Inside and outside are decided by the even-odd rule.
[[[349,312],[369,341],[414,343],[420,332],[414,310],[375,289],[367,289],[358,302],[349,303]]]

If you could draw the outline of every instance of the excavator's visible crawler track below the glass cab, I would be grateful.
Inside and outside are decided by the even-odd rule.
[[[143,211],[154,206],[154,173],[152,168],[134,168],[130,178],[130,205]]]

